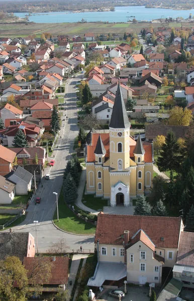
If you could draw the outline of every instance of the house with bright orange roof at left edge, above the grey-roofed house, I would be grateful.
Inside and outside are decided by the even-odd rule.
[[[16,152],[14,150],[0,144],[0,176],[5,176],[13,170],[12,165],[15,158]]]

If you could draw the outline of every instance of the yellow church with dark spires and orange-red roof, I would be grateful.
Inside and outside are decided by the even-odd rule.
[[[130,122],[118,85],[109,133],[89,132],[85,147],[86,193],[129,206],[149,193],[153,179],[153,144],[130,136]],[[87,137],[88,138],[88,137]]]

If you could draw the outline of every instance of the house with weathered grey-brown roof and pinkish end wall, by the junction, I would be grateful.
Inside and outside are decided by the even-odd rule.
[[[0,232],[0,259],[7,256],[24,257],[35,256],[35,239],[30,232]]]

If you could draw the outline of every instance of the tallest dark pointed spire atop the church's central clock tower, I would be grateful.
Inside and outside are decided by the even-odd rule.
[[[125,102],[121,91],[120,83],[118,84],[117,93],[115,97],[115,103],[113,106],[113,112],[109,127],[113,128],[128,128],[130,127],[129,118],[125,108]]]

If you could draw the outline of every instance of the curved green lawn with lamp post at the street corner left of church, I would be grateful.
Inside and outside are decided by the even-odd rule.
[[[95,226],[79,219],[64,203],[63,195],[60,193],[58,199],[59,221],[57,222],[56,211],[53,221],[60,229],[74,234],[92,235],[95,234]]]

